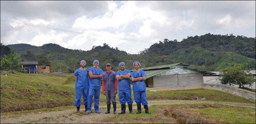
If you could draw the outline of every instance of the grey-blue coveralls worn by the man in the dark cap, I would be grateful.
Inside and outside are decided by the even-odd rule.
[[[106,103],[110,104],[110,100],[112,101],[112,104],[116,103],[116,94],[115,94],[115,80],[116,80],[116,72],[110,71],[108,74],[107,72],[104,72],[102,75],[102,79],[105,81],[105,92],[106,92]]]

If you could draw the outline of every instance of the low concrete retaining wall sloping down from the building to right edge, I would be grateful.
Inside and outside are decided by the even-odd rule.
[[[196,84],[196,85],[184,85],[184,86],[170,86],[170,87],[158,87],[158,88],[149,88],[149,90],[159,90],[159,91],[170,91],[170,90],[190,90],[190,89],[209,89],[209,90],[219,90],[222,92],[234,94],[246,99],[254,100],[256,97],[255,92],[248,90],[232,87],[229,85],[223,84]],[[207,99],[207,98],[206,98]]]

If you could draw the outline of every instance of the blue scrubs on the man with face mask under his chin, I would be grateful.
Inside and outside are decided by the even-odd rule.
[[[95,69],[94,67],[90,67],[88,71],[91,71],[93,75],[103,74],[103,71],[100,68]],[[87,105],[88,110],[91,110],[93,96],[94,96],[94,110],[99,110],[100,90],[101,90],[101,79],[89,78],[89,94],[88,94],[88,105]]]

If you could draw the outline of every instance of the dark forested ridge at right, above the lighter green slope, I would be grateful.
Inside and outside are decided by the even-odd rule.
[[[234,36],[233,34],[205,34],[191,36],[183,39],[181,42],[164,39],[163,42],[155,43],[150,48],[141,51],[141,54],[157,53],[159,55],[169,55],[180,48],[197,47],[212,51],[239,51],[236,53],[255,59],[255,46],[255,38],[247,38],[239,35]]]

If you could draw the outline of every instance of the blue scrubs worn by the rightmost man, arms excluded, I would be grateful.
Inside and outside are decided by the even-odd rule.
[[[130,76],[133,78],[144,77],[146,76],[146,73],[143,70],[140,70],[139,72],[133,71],[131,72]],[[133,81],[132,88],[133,88],[134,101],[137,104],[142,103],[143,106],[147,105],[148,101],[146,98],[146,86],[145,86],[144,80]]]

